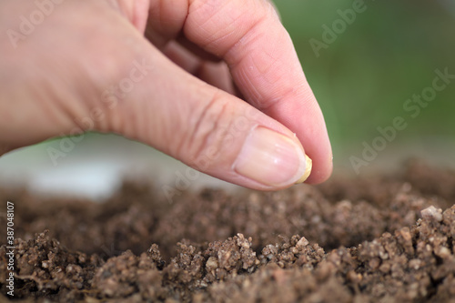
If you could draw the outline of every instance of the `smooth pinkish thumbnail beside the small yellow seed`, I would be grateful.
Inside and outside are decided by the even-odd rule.
[[[259,126],[248,136],[233,168],[239,175],[263,185],[283,187],[304,181],[306,158],[297,142]]]

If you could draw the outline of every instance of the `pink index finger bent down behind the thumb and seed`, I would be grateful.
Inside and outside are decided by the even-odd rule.
[[[324,117],[273,5],[267,0],[152,0],[150,7],[154,31],[172,38],[181,30],[222,57],[247,101],[296,133],[313,160],[308,183],[330,176]]]

